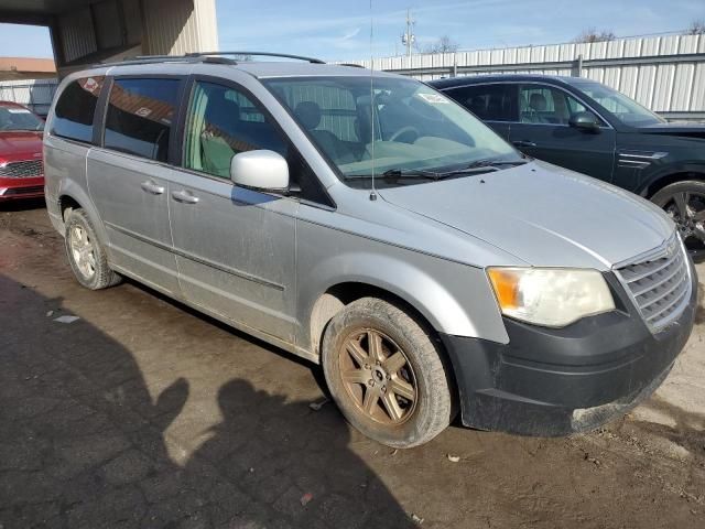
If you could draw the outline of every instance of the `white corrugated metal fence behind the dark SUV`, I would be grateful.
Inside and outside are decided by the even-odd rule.
[[[688,54],[693,54],[692,62],[688,57],[683,58]],[[375,68],[399,71],[423,80],[452,75],[454,63],[459,68],[459,76],[481,73],[574,75],[577,58],[582,56],[584,77],[618,89],[657,112],[703,112],[705,57],[702,54],[705,54],[705,35],[668,35],[413,55],[411,58],[383,57],[375,60]],[[653,61],[649,62],[649,58]],[[590,64],[590,61],[607,64]],[[620,63],[610,65],[610,61]],[[356,63],[370,66],[369,60]],[[572,68],[565,63],[572,63]],[[523,65],[525,69],[518,68]],[[508,67],[502,69],[502,66]],[[463,71],[464,67],[474,69]]]

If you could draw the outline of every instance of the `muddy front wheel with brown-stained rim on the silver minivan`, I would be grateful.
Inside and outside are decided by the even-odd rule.
[[[389,359],[394,356],[394,352],[401,352],[406,360],[401,370],[393,371],[399,376],[392,375],[390,378],[387,375],[387,382],[383,382],[384,371],[381,367],[386,364],[391,365],[391,363],[382,361],[378,368],[372,366],[373,369],[382,370],[380,376],[382,382],[380,384],[386,385],[383,388],[387,385],[390,386],[390,389],[387,390],[380,387],[379,391],[391,391],[389,395],[380,393],[379,401],[375,401],[376,407],[371,407],[373,412],[367,412],[364,409],[364,402],[367,392],[371,390],[368,385],[373,382],[372,378],[379,375],[379,371],[364,371],[364,366],[354,359],[354,355],[347,356],[351,339],[357,341],[356,344],[362,344],[367,339],[367,347],[371,352],[369,341],[372,338],[367,334],[370,332],[375,333],[375,336],[383,336],[379,342],[382,346],[377,346],[377,350],[384,349],[382,356],[388,354],[387,359]],[[356,338],[356,336],[358,337]],[[438,349],[436,341],[433,339],[425,325],[420,324],[404,311],[386,301],[362,298],[343,309],[328,324],[323,338],[322,364],[330,395],[350,424],[368,438],[382,444],[408,449],[431,441],[453,419],[453,386],[442,354],[443,352]],[[370,353],[368,358],[371,357]],[[343,364],[348,359],[351,364],[346,367]],[[392,373],[391,369],[393,368],[390,367],[390,373]],[[367,373],[372,373],[372,375],[367,385],[359,381],[345,382],[344,370],[346,374],[362,371],[365,376]],[[401,382],[408,381],[406,386],[415,388],[411,401],[403,398],[401,393],[395,393],[395,389],[392,389],[392,386],[395,386],[400,380],[400,376],[404,378]],[[354,395],[354,391],[357,390],[351,389],[357,387],[360,388],[358,396]],[[402,411],[405,413],[405,418],[398,419],[398,422],[394,423],[393,413],[388,411],[389,400],[386,399],[394,399],[399,404],[397,406],[399,410],[402,410],[403,406]],[[381,412],[378,407],[382,410]],[[373,418],[375,414],[387,422],[379,422]],[[384,418],[384,414],[388,417]]]

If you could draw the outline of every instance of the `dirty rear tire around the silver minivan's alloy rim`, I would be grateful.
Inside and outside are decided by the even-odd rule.
[[[106,251],[96,235],[96,230],[84,209],[67,209],[64,215],[66,255],[68,262],[78,282],[90,290],[107,289],[118,284],[122,278],[116,273],[109,266]],[[77,260],[76,251],[72,247],[72,233],[75,229],[84,230],[86,241],[89,245],[91,253],[89,271],[86,273],[86,263]]]

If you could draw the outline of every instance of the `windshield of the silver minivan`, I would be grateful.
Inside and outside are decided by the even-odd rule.
[[[343,179],[358,181],[355,185],[369,180],[372,171],[376,176],[397,172],[397,185],[399,179],[406,179],[406,184],[478,162],[522,160],[463,107],[413,79],[375,77],[372,90],[369,77],[357,76],[276,78],[264,84]]]

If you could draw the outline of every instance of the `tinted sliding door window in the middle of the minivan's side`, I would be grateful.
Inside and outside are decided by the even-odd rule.
[[[104,144],[150,160],[169,160],[180,79],[115,79]]]

